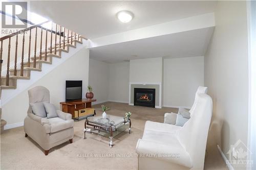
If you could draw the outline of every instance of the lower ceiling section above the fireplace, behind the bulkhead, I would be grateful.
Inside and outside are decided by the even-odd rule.
[[[90,58],[108,63],[154,57],[204,56],[214,27],[90,48]]]

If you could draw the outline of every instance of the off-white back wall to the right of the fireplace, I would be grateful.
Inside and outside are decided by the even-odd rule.
[[[204,85],[204,57],[166,58],[163,63],[163,106],[191,107],[198,86]]]

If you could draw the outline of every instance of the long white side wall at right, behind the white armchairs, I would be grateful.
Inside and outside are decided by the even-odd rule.
[[[214,116],[211,142],[226,154],[248,135],[248,43],[245,1],[218,2],[216,28],[205,55],[205,85]],[[211,134],[213,133],[213,134]],[[237,167],[234,167],[237,168]]]

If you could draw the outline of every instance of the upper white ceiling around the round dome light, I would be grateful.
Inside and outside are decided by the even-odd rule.
[[[89,39],[214,12],[216,1],[30,1],[30,11]],[[116,13],[133,12],[121,23]]]

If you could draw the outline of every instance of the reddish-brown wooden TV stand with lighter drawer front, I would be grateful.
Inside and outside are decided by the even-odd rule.
[[[96,99],[80,99],[70,102],[60,102],[62,105],[62,112],[72,114],[72,118],[79,118],[81,116],[96,114],[92,108],[92,102]]]

